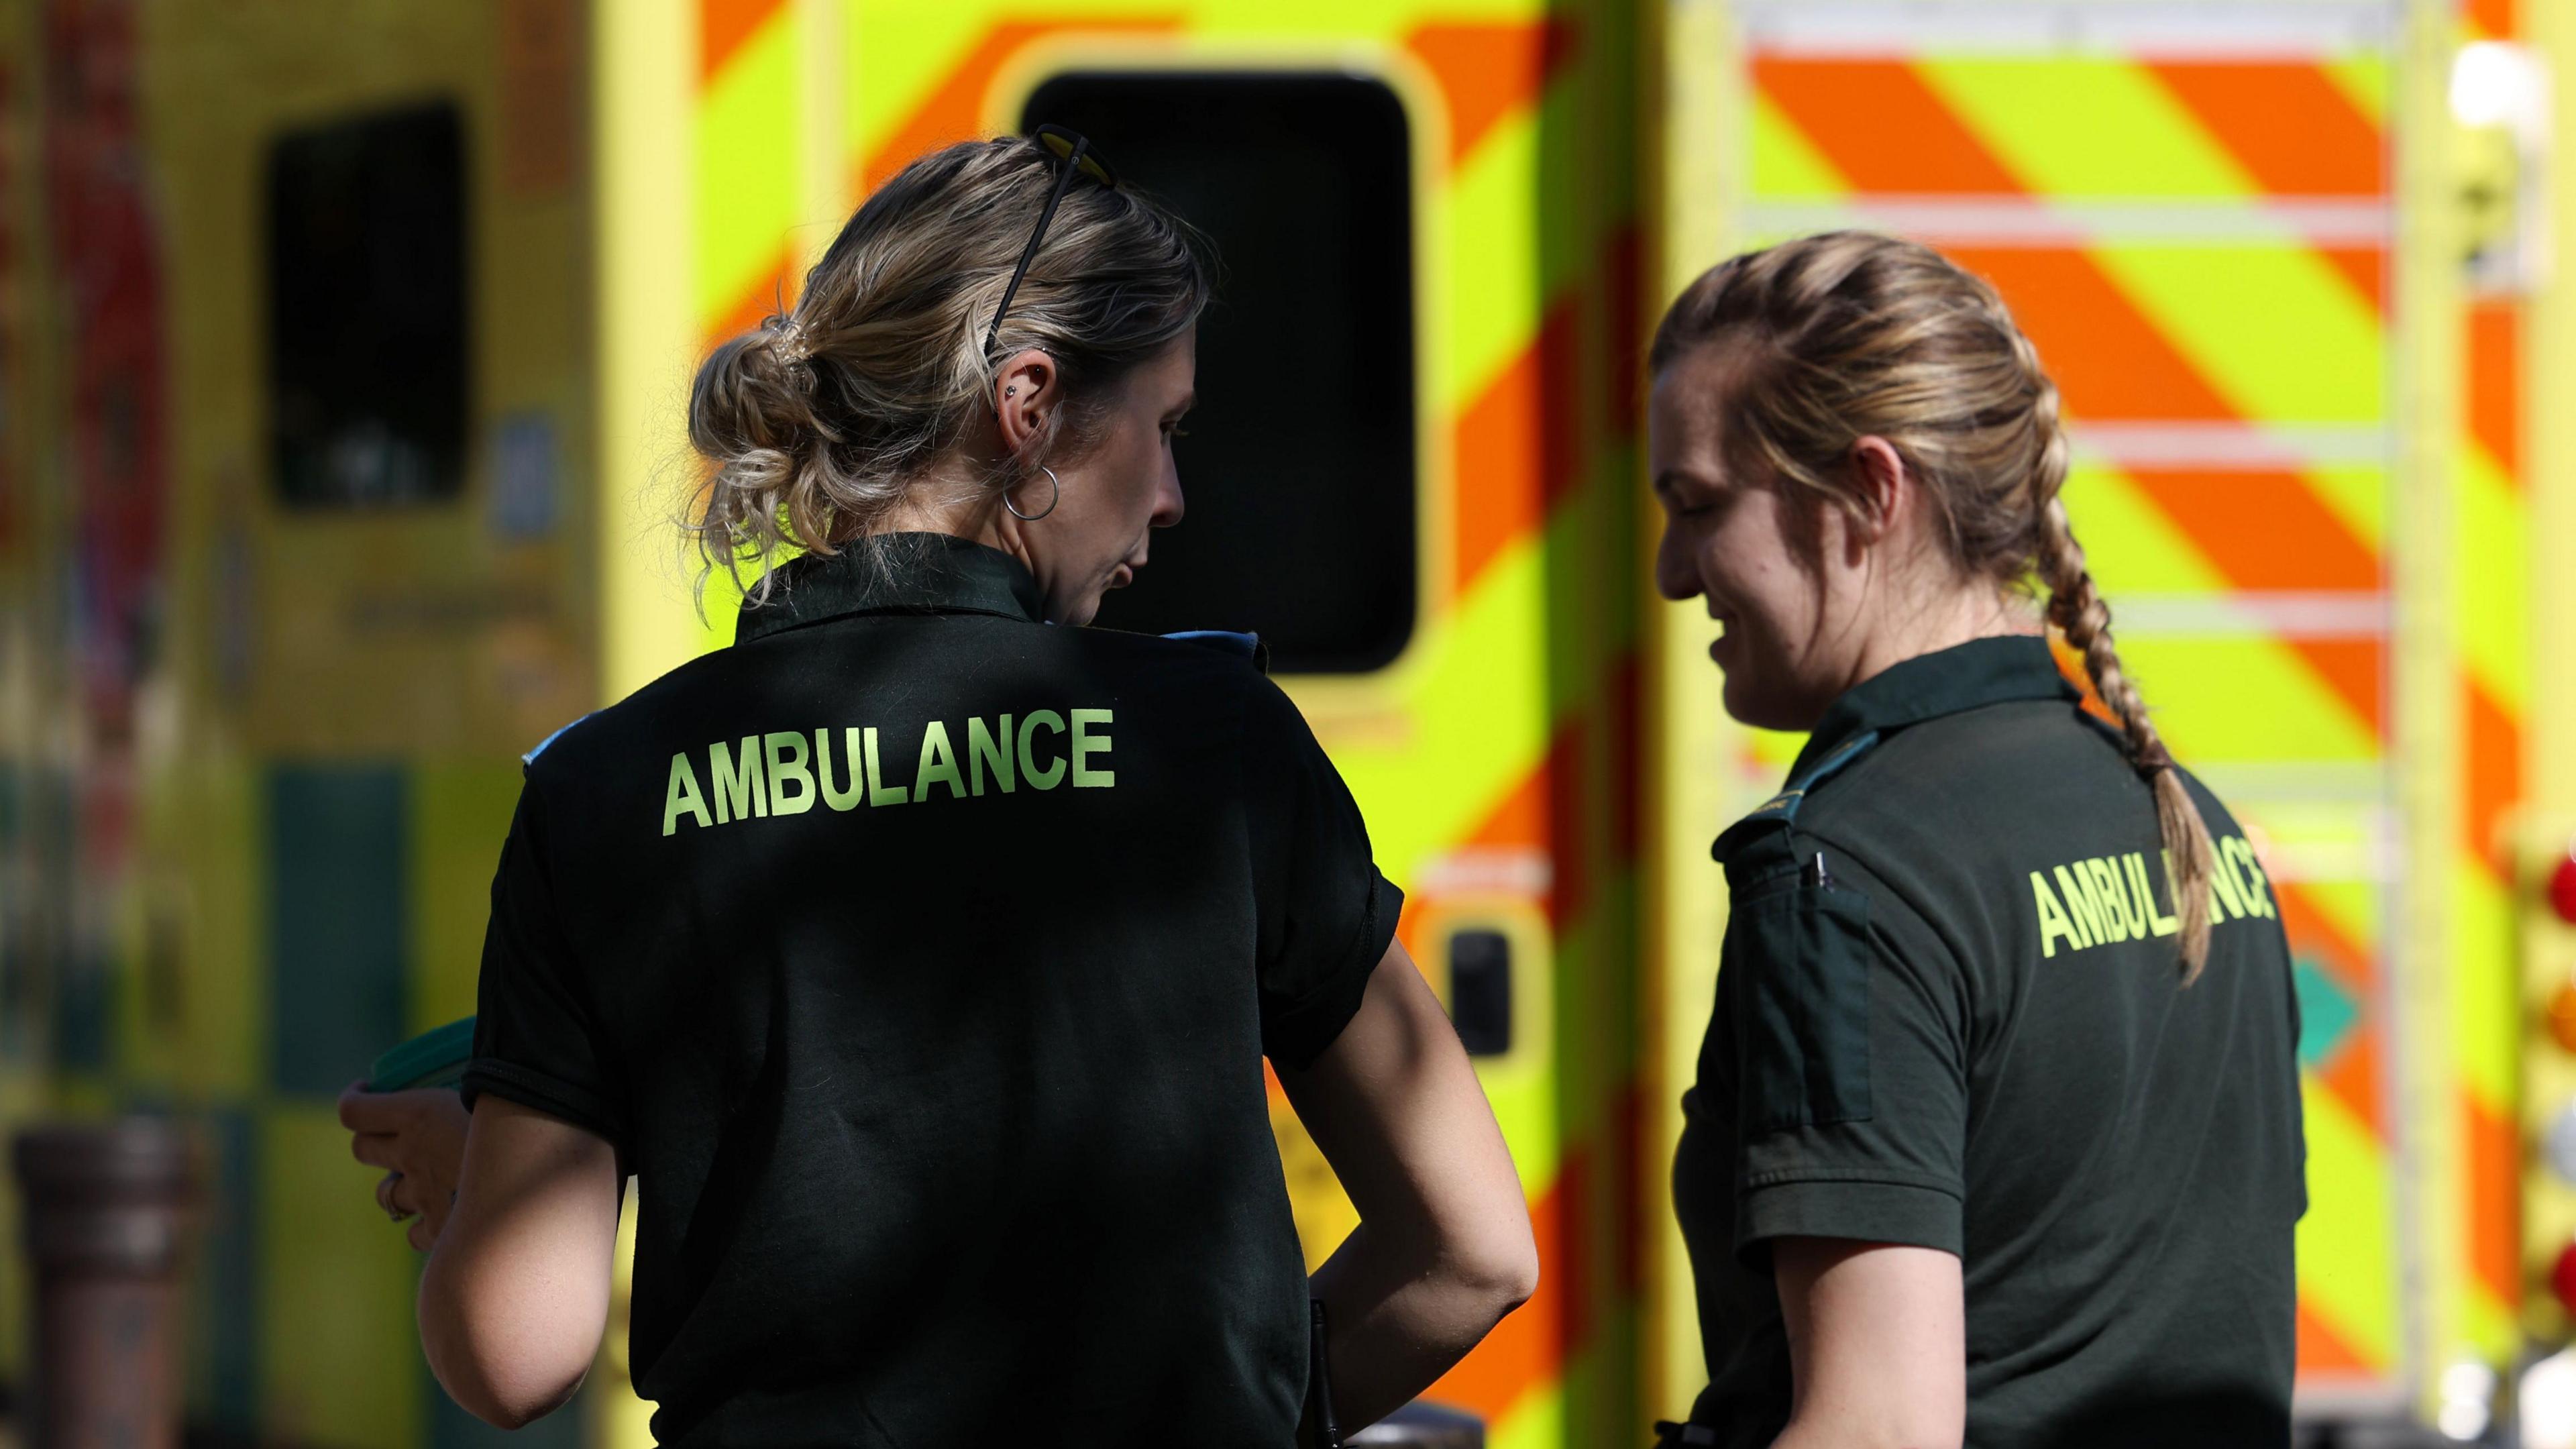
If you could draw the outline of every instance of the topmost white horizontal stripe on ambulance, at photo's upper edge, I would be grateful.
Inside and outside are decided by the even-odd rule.
[[[1842,57],[2339,59],[2406,34],[2396,0],[1739,0],[1739,15],[1749,49]]]

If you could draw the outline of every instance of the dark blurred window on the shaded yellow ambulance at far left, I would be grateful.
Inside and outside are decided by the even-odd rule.
[[[466,438],[466,168],[456,106],[268,152],[268,436],[299,508],[453,498]]]

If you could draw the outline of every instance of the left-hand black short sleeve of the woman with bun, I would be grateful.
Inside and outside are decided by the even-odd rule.
[[[626,1093],[556,920],[544,828],[531,781],[520,789],[492,877],[464,1098],[474,1106],[477,1096],[492,1093],[623,1147]]]

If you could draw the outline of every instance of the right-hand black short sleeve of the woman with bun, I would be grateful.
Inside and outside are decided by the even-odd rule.
[[[1378,874],[1368,825],[1306,717],[1267,678],[1244,706],[1262,1052],[1303,1067],[1360,1011],[1396,938],[1404,892]]]

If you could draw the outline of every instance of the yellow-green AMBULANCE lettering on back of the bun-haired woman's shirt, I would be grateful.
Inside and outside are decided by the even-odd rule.
[[[940,792],[948,799],[966,799],[987,789],[1012,794],[1020,786],[1110,789],[1118,773],[1097,763],[1110,753],[1110,724],[1108,709],[1061,714],[1030,709],[976,717],[956,727],[930,719],[922,724],[909,773],[899,773],[899,753],[894,763],[886,761],[891,750],[878,743],[876,724],[714,740],[703,750],[680,750],[670,758],[662,833],[675,835],[683,820],[708,828],[804,815],[814,804],[829,810],[855,810],[860,802],[917,804],[938,799]]]

